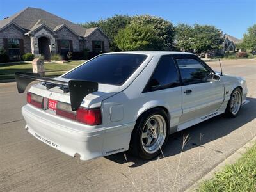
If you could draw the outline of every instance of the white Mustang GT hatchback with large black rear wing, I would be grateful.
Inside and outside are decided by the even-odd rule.
[[[81,160],[129,150],[156,157],[168,135],[226,113],[246,100],[246,81],[214,72],[184,52],[100,54],[54,79],[17,73],[28,104],[26,129],[38,140]]]

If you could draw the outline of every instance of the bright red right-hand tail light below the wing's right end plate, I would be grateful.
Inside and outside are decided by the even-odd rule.
[[[79,108],[76,113],[76,120],[88,125],[99,125],[101,124],[100,109]]]

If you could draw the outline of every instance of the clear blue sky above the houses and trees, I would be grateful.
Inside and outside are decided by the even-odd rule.
[[[256,0],[0,0],[0,19],[28,6],[42,8],[74,23],[97,21],[115,14],[149,14],[174,25],[214,25],[236,38],[243,38],[246,29],[256,24]]]

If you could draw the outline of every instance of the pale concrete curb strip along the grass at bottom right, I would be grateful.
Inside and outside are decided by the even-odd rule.
[[[252,138],[252,140],[248,141],[243,147],[239,148],[234,154],[231,154],[227,159],[218,164],[215,168],[213,168],[209,173],[204,175],[202,179],[199,179],[195,184],[186,189],[185,192],[198,191],[199,184],[204,182],[205,180],[212,179],[214,177],[214,173],[220,172],[223,168],[228,164],[236,163],[237,159],[240,159],[243,154],[248,150],[248,148],[253,147],[253,144],[256,142],[256,137]]]

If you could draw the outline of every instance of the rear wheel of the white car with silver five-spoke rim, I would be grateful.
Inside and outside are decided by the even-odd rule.
[[[161,108],[150,109],[136,122],[129,152],[142,159],[152,159],[161,153],[168,141],[168,136],[169,121],[166,112]]]

